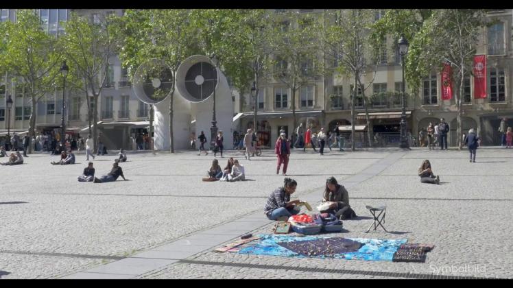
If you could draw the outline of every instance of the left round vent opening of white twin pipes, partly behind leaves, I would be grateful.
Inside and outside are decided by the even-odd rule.
[[[172,88],[173,73],[164,60],[147,60],[135,71],[134,91],[146,104],[163,101],[171,93]]]

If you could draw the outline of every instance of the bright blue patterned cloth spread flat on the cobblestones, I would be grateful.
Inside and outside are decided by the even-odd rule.
[[[310,254],[311,256],[316,257],[333,257],[348,260],[392,261],[394,253],[397,252],[401,245],[407,242],[407,239],[391,240],[314,236],[294,237],[287,235],[265,234],[257,236],[261,237],[259,241],[254,241],[254,243],[242,246],[237,253],[297,257],[305,257],[305,255]],[[308,241],[311,243],[307,243]],[[331,241],[333,241],[333,246],[335,248],[326,247],[328,243],[331,243]],[[359,244],[356,244],[355,242]],[[356,248],[357,245],[359,245],[359,248]],[[306,247],[311,248],[311,250],[303,250]]]

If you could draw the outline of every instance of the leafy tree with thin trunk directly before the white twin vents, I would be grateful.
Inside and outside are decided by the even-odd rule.
[[[119,39],[119,58],[123,67],[128,68],[130,77],[146,60],[158,58],[171,68],[173,79],[180,63],[198,52],[197,21],[193,10],[126,10],[126,14],[116,20],[116,33]],[[175,86],[171,88],[169,104],[170,152],[174,153],[173,99]]]

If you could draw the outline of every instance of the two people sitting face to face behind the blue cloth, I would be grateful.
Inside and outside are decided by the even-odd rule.
[[[290,200],[290,195],[296,192],[298,182],[285,178],[283,187],[274,190],[265,203],[264,213],[270,220],[287,221],[290,216],[300,212],[300,200]],[[320,213],[331,213],[339,219],[357,217],[355,211],[349,206],[349,193],[346,188],[338,184],[335,177],[326,179],[326,187],[322,195],[322,202],[333,202],[327,210]]]

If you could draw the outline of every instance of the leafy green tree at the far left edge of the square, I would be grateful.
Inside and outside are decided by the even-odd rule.
[[[34,10],[17,10],[16,20],[16,23],[3,23],[1,28],[4,36],[0,45],[0,71],[8,73],[16,85],[23,86],[25,96],[29,97],[32,108],[29,137],[32,139],[38,101],[60,88],[55,80],[62,59],[56,38],[40,29]],[[29,145],[29,153],[32,153],[32,145]]]

